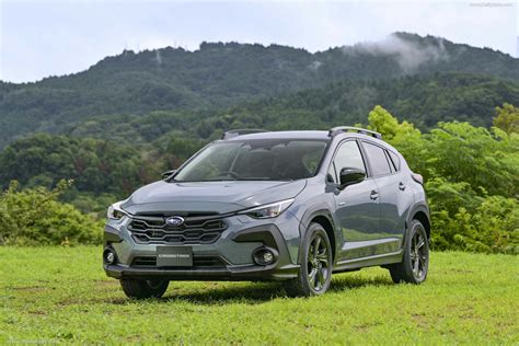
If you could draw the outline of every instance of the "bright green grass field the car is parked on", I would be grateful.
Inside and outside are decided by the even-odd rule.
[[[171,282],[140,302],[100,258],[95,246],[0,247],[0,343],[519,343],[517,256],[432,253],[422,286],[369,268],[312,299],[277,284]]]

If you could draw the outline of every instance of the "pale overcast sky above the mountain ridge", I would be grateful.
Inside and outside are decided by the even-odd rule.
[[[124,49],[233,41],[316,51],[396,31],[519,57],[518,16],[518,0],[0,0],[0,80],[79,72]]]

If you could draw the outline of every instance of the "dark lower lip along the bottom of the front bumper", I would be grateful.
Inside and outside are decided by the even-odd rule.
[[[117,279],[135,278],[150,279],[162,278],[169,280],[286,280],[298,276],[299,265],[286,265],[282,267],[273,266],[227,266],[224,268],[138,268],[122,265],[105,265],[104,270],[107,276]]]

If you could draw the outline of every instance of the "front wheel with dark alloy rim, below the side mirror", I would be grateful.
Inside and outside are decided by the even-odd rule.
[[[315,247],[318,255],[315,256]],[[284,281],[289,297],[312,297],[326,292],[332,281],[332,245],[319,223],[310,223],[301,244],[301,266],[298,277]]]

